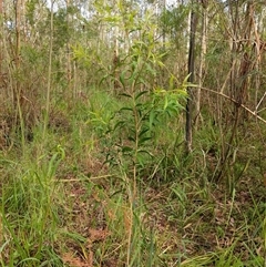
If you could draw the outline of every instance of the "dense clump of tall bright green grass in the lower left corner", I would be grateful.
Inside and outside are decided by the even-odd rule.
[[[42,266],[44,261],[47,265],[60,261],[53,249],[60,224],[60,197],[54,195],[57,183],[53,178],[63,158],[64,150],[58,146],[50,160],[40,160],[39,166],[6,162],[8,168],[16,167],[18,172],[10,176],[1,194],[2,266]]]

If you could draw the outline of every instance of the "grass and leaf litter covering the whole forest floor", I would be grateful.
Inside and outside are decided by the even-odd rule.
[[[132,157],[116,151],[127,141],[110,132],[121,107],[96,91],[54,112],[45,140],[37,126],[23,154],[19,145],[2,150],[1,266],[265,266],[263,152],[245,154],[239,144],[227,173],[241,177],[227,191],[212,181],[218,133],[200,130],[185,157],[182,119],[164,121],[145,143],[153,155],[137,165],[134,184]],[[110,151],[114,165],[104,164]]]

